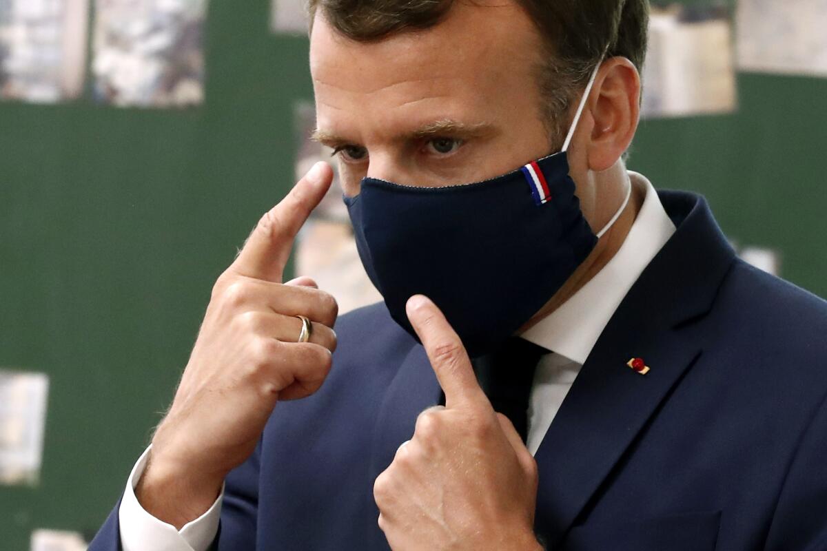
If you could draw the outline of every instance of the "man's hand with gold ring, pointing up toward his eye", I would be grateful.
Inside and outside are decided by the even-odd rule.
[[[174,401],[136,488],[151,515],[180,529],[207,511],[243,463],[277,400],[313,394],[331,368],[336,300],[313,280],[281,283],[294,237],[330,187],[318,163],[268,211],[218,278]],[[297,343],[302,321],[308,343]]]

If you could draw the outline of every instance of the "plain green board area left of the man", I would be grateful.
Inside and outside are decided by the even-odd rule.
[[[50,375],[38,487],[0,487],[0,549],[93,534],[174,392],[214,279],[292,186],[304,37],[212,2],[207,102],[0,102],[0,366]]]

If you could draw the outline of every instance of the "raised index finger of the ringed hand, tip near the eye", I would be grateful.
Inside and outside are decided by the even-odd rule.
[[[327,163],[314,164],[287,197],[261,217],[230,269],[248,278],[281,283],[293,240],[322,201],[332,178],[333,172]]]

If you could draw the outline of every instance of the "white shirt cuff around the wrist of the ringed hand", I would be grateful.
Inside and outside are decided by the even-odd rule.
[[[132,468],[121,507],[117,511],[123,551],[207,551],[218,533],[221,502],[224,498],[223,484],[218,499],[207,512],[188,522],[180,531],[175,530],[173,525],[147,513],[135,496],[135,487],[146,468],[150,449],[152,444]]]

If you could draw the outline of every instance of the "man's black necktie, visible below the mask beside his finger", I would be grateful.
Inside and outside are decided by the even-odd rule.
[[[534,370],[540,357],[549,352],[528,340],[509,337],[500,349],[471,360],[491,406],[511,420],[523,442],[528,436],[528,398]],[[444,394],[439,403],[445,404]]]

